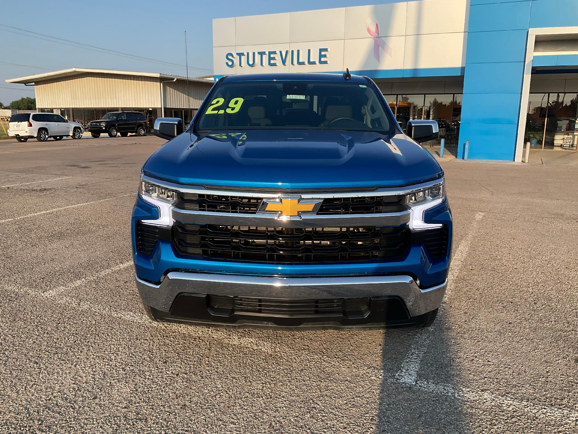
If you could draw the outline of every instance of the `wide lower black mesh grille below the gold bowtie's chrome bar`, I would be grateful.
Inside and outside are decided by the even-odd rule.
[[[399,258],[409,241],[407,226],[288,229],[173,225],[173,244],[183,255],[268,263]]]

